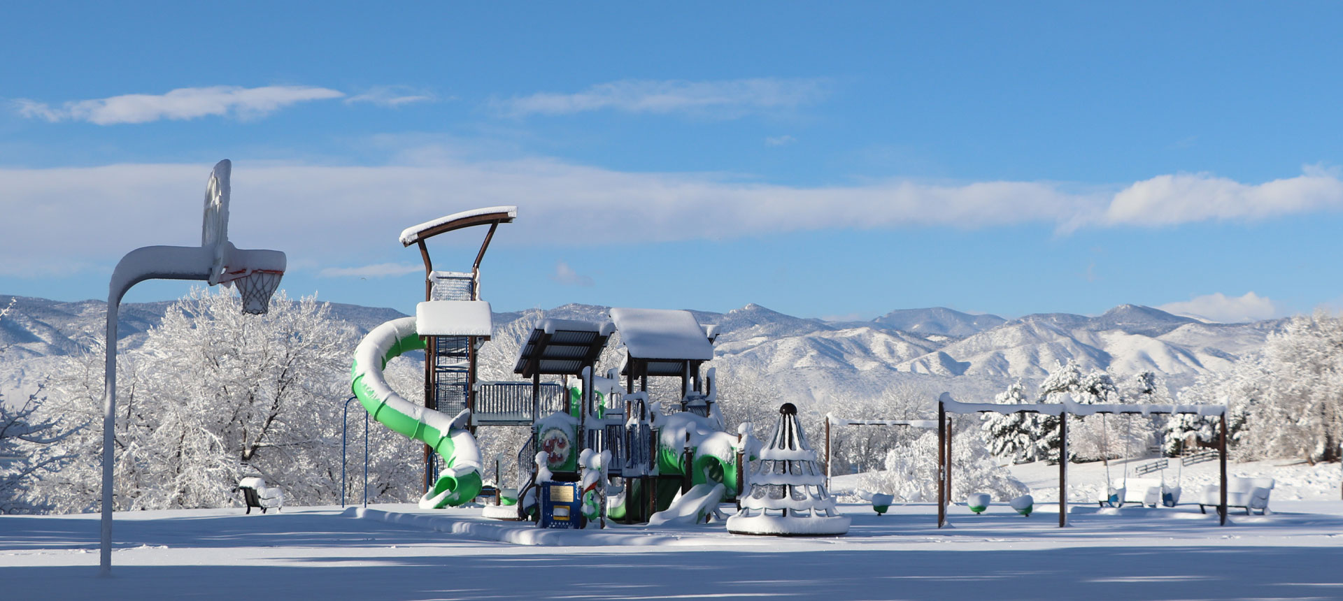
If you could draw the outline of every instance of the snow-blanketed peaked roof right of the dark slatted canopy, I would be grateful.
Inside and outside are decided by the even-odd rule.
[[[624,309],[610,311],[620,339],[638,360],[709,361],[713,343],[690,311]]]

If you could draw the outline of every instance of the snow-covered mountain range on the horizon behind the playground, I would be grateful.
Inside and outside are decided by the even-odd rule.
[[[0,305],[9,296],[0,295]],[[121,347],[142,343],[169,302],[121,310]],[[516,357],[522,337],[543,317],[604,319],[607,307],[497,313],[494,353]],[[970,315],[944,307],[896,310],[866,322],[798,318],[759,305],[728,313],[694,311],[720,329],[720,372],[751,373],[802,401],[869,396],[898,382],[987,394],[1014,378],[1039,380],[1054,362],[1116,376],[1156,372],[1172,386],[1228,368],[1254,351],[1281,321],[1206,323],[1158,309],[1121,305],[1099,317],[1050,313],[1018,319]],[[392,309],[332,303],[332,315],[360,331],[403,314]],[[20,296],[0,321],[0,390],[30,389],[51,357],[86,347],[103,329],[105,305]],[[502,376],[502,374],[500,374]]]

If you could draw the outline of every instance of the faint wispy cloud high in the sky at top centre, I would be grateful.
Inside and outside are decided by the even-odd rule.
[[[725,82],[623,79],[575,94],[537,93],[496,102],[510,117],[560,115],[594,110],[693,113],[720,118],[748,111],[792,109],[825,98],[822,79],[735,79]]]

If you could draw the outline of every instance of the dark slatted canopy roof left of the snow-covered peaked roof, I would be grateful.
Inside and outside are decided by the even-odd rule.
[[[522,345],[513,373],[579,376],[596,362],[614,331],[611,322],[543,319]]]

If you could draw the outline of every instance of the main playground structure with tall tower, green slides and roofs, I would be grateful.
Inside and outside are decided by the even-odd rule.
[[[713,369],[704,369],[716,326],[689,311],[658,309],[611,309],[602,322],[543,319],[514,366],[529,381],[479,381],[478,353],[493,333],[479,267],[498,225],[516,216],[516,207],[492,207],[403,231],[402,244],[418,245],[424,262],[424,300],[415,317],[369,331],[355,353],[352,388],[364,409],[426,444],[420,507],[462,506],[483,492],[492,499],[486,516],[549,527],[709,519],[720,503],[737,499],[745,464],[760,448],[744,428],[724,431]],[[489,231],[471,270],[435,270],[426,240],[477,225]],[[623,345],[622,362],[599,377],[596,362],[614,337]],[[383,369],[420,349],[424,402],[416,405],[387,385]],[[543,382],[543,376],[564,384]],[[680,396],[666,404],[651,398],[649,378],[655,377],[680,378]],[[517,452],[516,488],[505,488],[496,468],[493,490],[482,491],[473,436],[482,425],[530,429]]]

